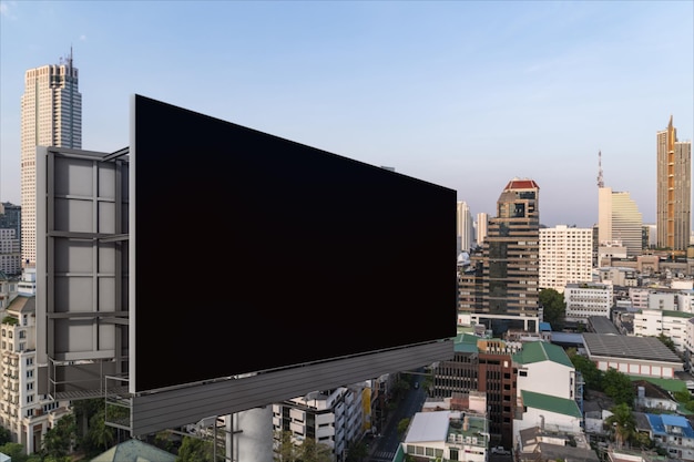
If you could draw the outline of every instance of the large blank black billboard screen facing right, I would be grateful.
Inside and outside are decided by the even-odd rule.
[[[141,95],[133,126],[137,391],[456,336],[453,189]]]

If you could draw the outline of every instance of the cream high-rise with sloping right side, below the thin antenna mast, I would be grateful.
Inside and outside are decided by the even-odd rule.
[[[626,255],[635,257],[642,253],[643,217],[636,203],[627,192],[598,188],[598,233],[599,242],[620,242],[626,247]]]

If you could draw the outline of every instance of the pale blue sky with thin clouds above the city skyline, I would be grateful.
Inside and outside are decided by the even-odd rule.
[[[20,204],[24,71],[72,48],[84,150],[127,146],[139,93],[450,187],[473,215],[532,178],[540,220],[579,227],[601,151],[654,223],[656,132],[672,115],[693,137],[693,44],[690,0],[2,0],[0,201]]]

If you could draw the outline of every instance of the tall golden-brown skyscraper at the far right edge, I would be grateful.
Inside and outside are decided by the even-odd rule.
[[[657,247],[684,254],[692,219],[692,142],[677,141],[672,124],[656,133]]]

